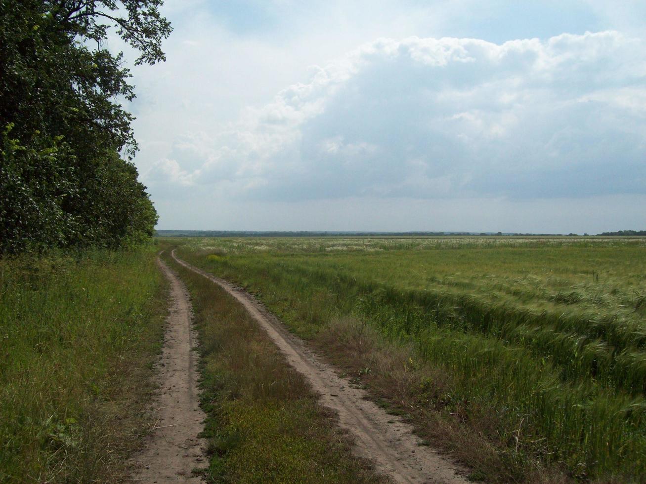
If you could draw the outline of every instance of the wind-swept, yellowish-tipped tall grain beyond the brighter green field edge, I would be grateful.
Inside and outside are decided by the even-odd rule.
[[[646,271],[646,248],[638,242],[292,254],[273,257],[272,263],[307,281],[320,278],[333,290],[359,286],[376,305],[394,301],[415,312],[421,327],[450,325],[522,345],[551,358],[564,379],[591,378],[640,395],[646,381],[646,284],[640,273]],[[262,255],[249,252],[245,258],[263,263]],[[601,283],[586,274],[590,265],[596,276],[603,274]]]

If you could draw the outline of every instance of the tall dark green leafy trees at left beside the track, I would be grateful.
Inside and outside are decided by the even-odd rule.
[[[111,28],[164,60],[161,0],[0,0],[0,254],[124,247],[157,214],[132,163],[134,98]]]

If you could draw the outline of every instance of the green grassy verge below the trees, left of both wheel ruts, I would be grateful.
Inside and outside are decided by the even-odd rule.
[[[0,260],[0,481],[127,479],[163,335],[155,256]]]

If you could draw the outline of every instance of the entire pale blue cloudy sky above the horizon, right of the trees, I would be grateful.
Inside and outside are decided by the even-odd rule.
[[[646,3],[166,0],[158,228],[646,228]],[[127,53],[128,54],[128,53]]]

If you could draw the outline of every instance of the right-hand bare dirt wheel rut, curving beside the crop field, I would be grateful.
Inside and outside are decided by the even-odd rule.
[[[359,456],[368,458],[380,472],[398,483],[466,483],[466,470],[437,452],[419,445],[412,427],[387,414],[366,399],[366,392],[353,387],[348,379],[339,378],[333,367],[320,361],[299,338],[289,333],[255,297],[231,283],[214,277],[171,252],[181,265],[224,288],[249,311],[269,338],[285,354],[289,364],[304,375],[320,394],[320,403],[339,416],[339,425],[355,439]]]

